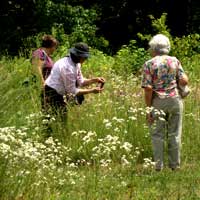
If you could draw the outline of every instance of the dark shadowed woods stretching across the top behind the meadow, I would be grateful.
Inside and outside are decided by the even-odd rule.
[[[152,33],[149,15],[167,13],[176,36],[200,30],[198,0],[1,0],[0,11],[0,52],[11,55],[18,53],[24,38],[50,33],[53,26],[62,26],[67,35],[82,31],[84,37],[103,37],[111,54],[138,32]]]

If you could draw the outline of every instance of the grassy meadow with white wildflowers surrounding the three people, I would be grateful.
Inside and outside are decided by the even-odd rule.
[[[184,100],[177,172],[154,172],[140,77],[124,78],[113,72],[114,64],[114,58],[93,52],[83,73],[104,76],[103,93],[69,106],[67,127],[52,121],[52,137],[46,138],[40,88],[22,84],[29,60],[1,59],[0,199],[200,198],[198,57],[184,61],[192,93]]]

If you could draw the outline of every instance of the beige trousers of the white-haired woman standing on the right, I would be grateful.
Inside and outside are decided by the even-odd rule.
[[[155,121],[150,126],[150,132],[156,169],[162,169],[164,165],[165,137],[168,144],[169,167],[176,168],[180,165],[183,102],[180,97],[154,97],[152,106]]]

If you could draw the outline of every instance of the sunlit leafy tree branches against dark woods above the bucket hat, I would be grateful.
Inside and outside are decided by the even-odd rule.
[[[98,49],[108,46],[103,37],[96,36],[96,10],[53,2],[49,2],[48,10],[48,18],[53,26],[64,31],[70,45],[82,41]]]

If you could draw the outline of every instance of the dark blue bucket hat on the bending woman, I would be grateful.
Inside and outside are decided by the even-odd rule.
[[[81,58],[88,58],[90,56],[89,47],[86,43],[83,42],[76,43],[74,47],[69,50],[69,52]]]

